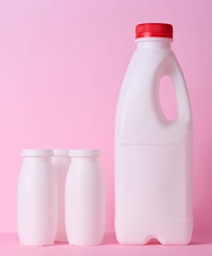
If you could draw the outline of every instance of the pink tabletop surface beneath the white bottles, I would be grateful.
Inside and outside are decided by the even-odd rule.
[[[196,256],[212,255],[212,236],[195,235],[191,244],[187,246],[163,246],[157,241],[148,245],[127,246],[117,244],[113,233],[105,234],[103,243],[99,246],[72,246],[69,244],[54,244],[53,246],[21,246],[15,234],[0,234],[0,254],[15,256],[42,256],[42,255],[92,255],[92,256],[125,256],[125,255],[156,255],[156,256]]]

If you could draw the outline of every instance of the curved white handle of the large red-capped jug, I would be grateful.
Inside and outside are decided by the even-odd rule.
[[[175,119],[175,121],[180,122],[181,124],[192,124],[192,109],[186,87],[186,81],[174,54],[171,54],[163,61],[161,72],[159,72],[159,78],[162,78],[164,75],[171,78],[175,89],[175,97],[178,108],[178,117]]]

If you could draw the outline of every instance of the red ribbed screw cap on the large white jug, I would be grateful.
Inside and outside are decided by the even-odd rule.
[[[135,38],[168,37],[173,38],[173,26],[166,23],[143,23],[135,27]]]

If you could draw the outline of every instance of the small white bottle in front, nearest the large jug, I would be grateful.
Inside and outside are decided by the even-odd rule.
[[[65,216],[69,244],[101,244],[105,231],[105,184],[98,150],[71,150]]]

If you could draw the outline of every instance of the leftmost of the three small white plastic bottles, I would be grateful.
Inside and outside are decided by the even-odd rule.
[[[18,236],[23,245],[51,245],[56,238],[57,184],[52,150],[24,149],[18,178]]]

